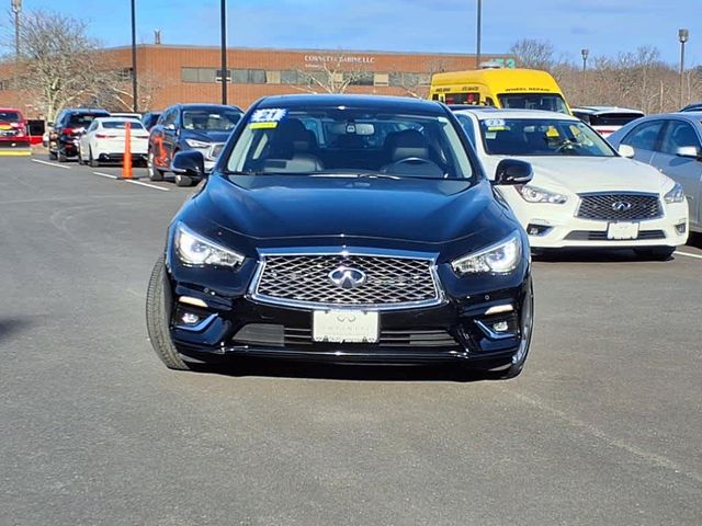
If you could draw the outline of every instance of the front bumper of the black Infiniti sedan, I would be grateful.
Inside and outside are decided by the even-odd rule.
[[[378,342],[363,344],[314,342],[310,308],[260,304],[247,294],[230,296],[167,274],[171,338],[182,355],[195,359],[245,355],[332,363],[506,363],[529,344],[523,335],[531,332],[525,330],[531,316],[523,316],[531,301],[529,274],[514,287],[448,297],[433,307],[381,311]],[[185,315],[190,324],[183,323]],[[508,329],[496,333],[496,324]]]

